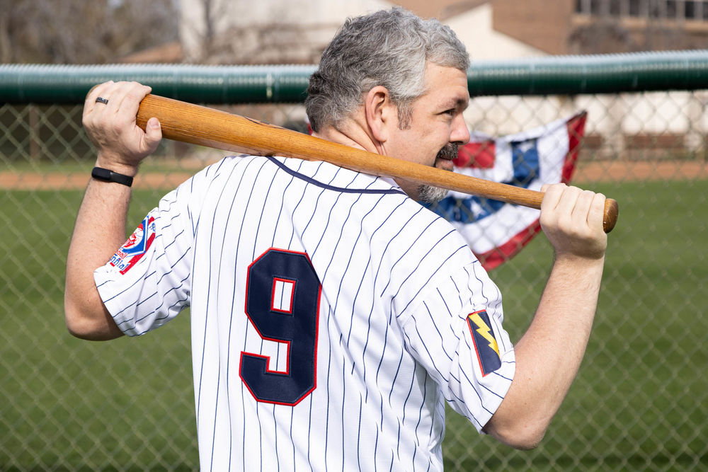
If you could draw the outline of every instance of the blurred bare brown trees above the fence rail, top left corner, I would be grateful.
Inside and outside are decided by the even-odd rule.
[[[173,0],[0,2],[2,62],[113,62],[178,38]]]

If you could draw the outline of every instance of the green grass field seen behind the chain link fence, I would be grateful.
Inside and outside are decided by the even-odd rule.
[[[588,354],[541,446],[513,451],[450,412],[448,471],[708,466],[705,181],[598,189],[620,204]],[[159,194],[136,192],[129,226]],[[0,470],[198,468],[188,313],[139,339],[64,328],[81,192],[0,190]],[[517,339],[551,263],[542,236],[491,273]]]

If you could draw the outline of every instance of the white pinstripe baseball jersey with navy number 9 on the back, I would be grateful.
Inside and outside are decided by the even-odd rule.
[[[96,284],[127,335],[190,306],[202,470],[441,470],[445,401],[508,390],[501,294],[392,180],[231,157],[141,228]]]

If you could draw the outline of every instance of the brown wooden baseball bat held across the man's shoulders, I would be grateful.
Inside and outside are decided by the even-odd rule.
[[[145,129],[151,117],[160,120],[163,137],[190,144],[259,156],[326,161],[353,171],[402,178],[536,209],[540,209],[543,200],[543,193],[535,190],[374,154],[251,118],[152,94],[140,103],[137,125]],[[615,227],[618,214],[617,202],[608,198],[603,219],[605,233]]]

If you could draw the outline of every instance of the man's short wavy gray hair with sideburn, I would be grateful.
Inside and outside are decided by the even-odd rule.
[[[305,106],[312,129],[341,123],[375,86],[387,88],[407,127],[413,101],[426,92],[428,62],[467,71],[469,55],[449,27],[404,8],[348,18],[310,76]]]

